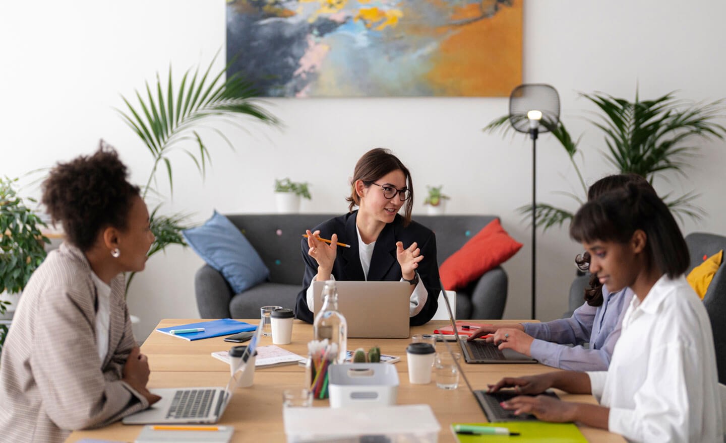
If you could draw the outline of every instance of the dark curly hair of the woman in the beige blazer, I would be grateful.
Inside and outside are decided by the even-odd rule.
[[[43,182],[41,202],[60,221],[70,243],[86,252],[108,226],[126,229],[139,186],[126,181],[126,166],[102,140],[91,156],[58,163]]]

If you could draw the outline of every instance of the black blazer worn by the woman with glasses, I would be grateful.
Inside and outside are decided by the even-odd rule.
[[[330,239],[334,233],[338,234],[338,241],[349,244],[349,248],[338,248],[338,254],[333,263],[333,276],[337,281],[364,281],[363,268],[358,250],[358,233],[356,232],[356,217],[358,211],[350,212],[340,217],[331,218],[317,225],[311,231],[320,231],[323,239]],[[421,249],[423,260],[418,264],[417,272],[428,291],[428,299],[423,309],[411,318],[411,326],[423,325],[431,320],[439,308],[439,265],[436,262],[436,236],[431,229],[415,221],[404,228],[404,219],[396,215],[393,222],[388,223],[380,232],[375,241],[373,255],[368,270],[369,281],[400,281],[401,265],[396,258],[396,241],[402,241],[404,248],[411,246],[415,241]],[[308,255],[308,241],[301,241],[303,260],[305,261],[305,275],[303,276],[303,290],[298,293],[298,302],[295,306],[295,317],[308,323],[313,323],[313,313],[308,307],[306,293],[313,277],[317,274],[317,261]]]

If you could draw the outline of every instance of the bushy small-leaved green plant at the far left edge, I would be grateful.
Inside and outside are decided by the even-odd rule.
[[[50,243],[41,233],[46,223],[17,195],[16,182],[17,178],[0,178],[0,315],[9,310],[11,318],[20,292],[45,259],[45,244]],[[7,331],[7,324],[0,324],[0,351]]]

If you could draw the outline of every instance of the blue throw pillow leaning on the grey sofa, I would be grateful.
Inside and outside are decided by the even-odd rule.
[[[194,252],[227,279],[234,294],[256,286],[269,276],[269,269],[248,239],[219,212],[214,211],[203,225],[181,233]]]

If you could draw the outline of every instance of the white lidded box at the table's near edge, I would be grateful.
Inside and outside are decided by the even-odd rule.
[[[429,405],[283,407],[282,418],[287,443],[437,443],[441,431]]]

